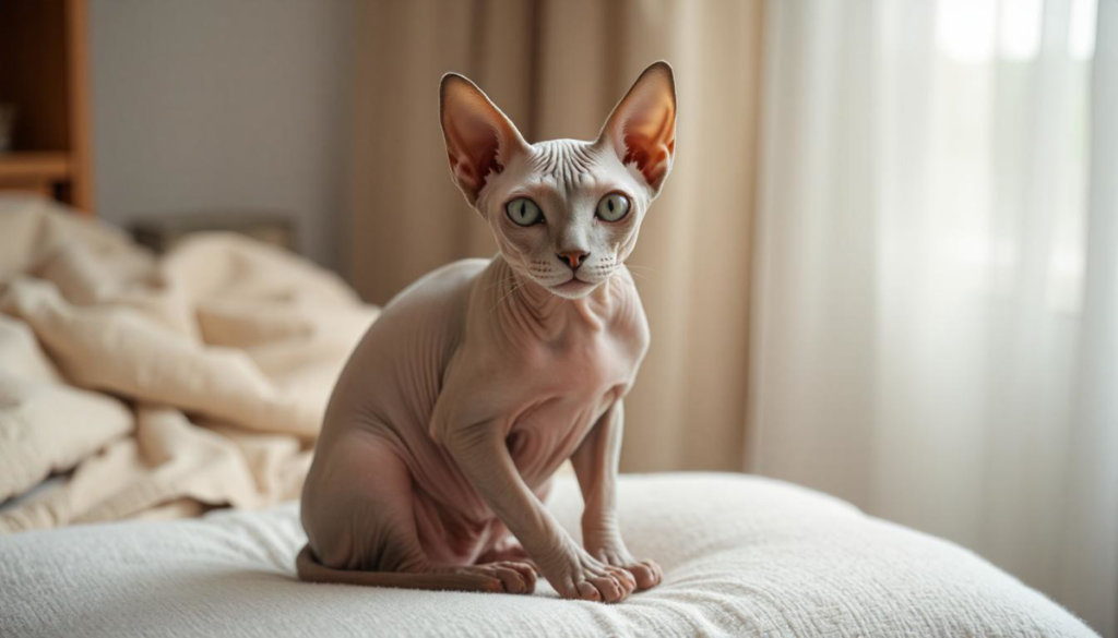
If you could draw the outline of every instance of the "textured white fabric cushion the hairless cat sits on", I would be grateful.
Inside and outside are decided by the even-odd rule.
[[[552,510],[577,532],[561,478]],[[1092,636],[954,544],[738,475],[624,476],[629,547],[665,569],[617,606],[306,584],[294,503],[0,537],[3,636]]]

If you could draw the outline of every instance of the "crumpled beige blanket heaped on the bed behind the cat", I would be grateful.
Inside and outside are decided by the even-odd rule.
[[[0,198],[0,533],[296,497],[377,313],[240,236],[157,258],[53,202]]]

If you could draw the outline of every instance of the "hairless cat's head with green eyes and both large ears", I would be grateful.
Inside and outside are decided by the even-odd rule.
[[[510,266],[567,298],[608,279],[672,170],[672,67],[645,69],[594,142],[529,144],[461,75],[445,75],[440,95],[451,173]]]

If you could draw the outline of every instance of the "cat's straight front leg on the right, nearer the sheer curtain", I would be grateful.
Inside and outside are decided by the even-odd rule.
[[[633,574],[638,590],[660,584],[663,571],[651,560],[633,558],[617,522],[617,460],[622,449],[625,409],[615,401],[571,456],[582,489],[582,544],[599,561]]]

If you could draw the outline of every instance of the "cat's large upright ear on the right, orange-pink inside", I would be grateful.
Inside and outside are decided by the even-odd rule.
[[[622,163],[636,162],[653,196],[664,185],[675,155],[675,78],[661,60],[644,69],[617,103],[598,136]]]

